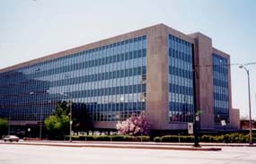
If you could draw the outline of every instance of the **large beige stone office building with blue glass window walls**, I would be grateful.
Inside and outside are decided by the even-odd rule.
[[[239,128],[232,107],[230,56],[199,32],[164,24],[75,47],[0,70],[0,117],[39,125],[59,100],[85,107],[95,128],[114,129],[146,113],[155,130]]]

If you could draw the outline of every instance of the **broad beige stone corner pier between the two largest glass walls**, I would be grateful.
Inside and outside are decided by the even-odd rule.
[[[163,129],[168,124],[168,33],[164,25],[148,32],[146,53],[146,113],[153,129]]]

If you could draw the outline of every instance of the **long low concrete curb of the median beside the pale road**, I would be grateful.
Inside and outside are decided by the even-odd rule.
[[[87,148],[119,148],[119,149],[147,149],[147,150],[172,150],[172,151],[221,151],[221,148],[184,148],[184,147],[166,147],[166,146],[141,146],[141,145],[114,145],[114,144],[56,144],[56,143],[13,143],[13,142],[1,142],[0,144],[15,144],[15,145],[32,145],[32,146],[57,146],[57,147],[87,147]]]

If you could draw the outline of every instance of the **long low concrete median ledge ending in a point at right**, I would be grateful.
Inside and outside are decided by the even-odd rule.
[[[57,147],[88,147],[88,148],[119,148],[119,149],[147,149],[172,151],[221,151],[221,148],[196,148],[172,145],[144,145],[144,144],[115,144],[115,143],[66,143],[66,142],[0,142],[0,144],[57,146]]]

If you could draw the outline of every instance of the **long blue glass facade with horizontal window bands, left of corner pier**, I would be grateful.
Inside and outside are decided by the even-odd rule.
[[[93,121],[124,120],[146,109],[146,36],[0,73],[0,117],[40,120],[59,100]]]

